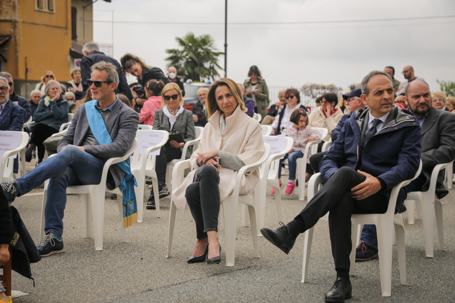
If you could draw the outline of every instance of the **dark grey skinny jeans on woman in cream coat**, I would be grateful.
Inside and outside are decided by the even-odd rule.
[[[196,238],[207,238],[207,231],[218,231],[220,213],[220,176],[211,164],[199,167],[194,181],[185,192],[187,203],[196,223]]]

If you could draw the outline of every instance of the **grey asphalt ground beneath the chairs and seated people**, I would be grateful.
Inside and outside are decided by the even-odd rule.
[[[283,176],[283,181],[286,176]],[[268,189],[268,192],[270,192]],[[35,243],[39,243],[41,189],[17,198],[15,206]],[[147,189],[147,196],[149,194]],[[187,264],[196,231],[189,209],[177,212],[172,257],[166,258],[170,199],[161,200],[162,217],[144,209],[144,220],[127,229],[122,243],[116,200],[106,194],[104,250],[95,251],[93,238],[82,238],[78,195],[68,195],[63,240],[65,253],[32,264],[31,280],[13,273],[13,289],[29,293],[15,303],[66,302],[324,302],[324,293],[335,279],[327,221],[315,226],[308,283],[301,283],[301,235],[288,255],[259,238],[260,258],[253,257],[250,228],[241,226],[238,211],[235,267],[222,263]],[[147,200],[147,199],[146,199]],[[408,285],[399,283],[396,248],[393,248],[392,296],[381,297],[378,259],[356,263],[353,298],[347,302],[455,302],[455,187],[443,201],[445,251],[425,258],[422,221],[409,225],[403,214],[406,237]],[[306,203],[306,201],[305,201]],[[300,212],[297,195],[282,197],[283,222]],[[277,227],[275,199],[267,195],[265,224]],[[221,222],[220,243],[224,243]]]

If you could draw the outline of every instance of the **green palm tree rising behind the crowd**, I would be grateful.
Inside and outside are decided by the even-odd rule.
[[[215,79],[219,77],[217,69],[218,57],[224,55],[218,52],[211,35],[195,37],[192,32],[184,37],[176,37],[178,49],[167,49],[169,55],[165,60],[169,62],[167,67],[174,66],[177,73],[185,79],[201,81],[203,79]]]

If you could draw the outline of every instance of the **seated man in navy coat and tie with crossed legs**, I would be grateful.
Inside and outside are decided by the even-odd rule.
[[[264,238],[285,253],[300,233],[329,212],[330,242],[337,279],[325,294],[326,302],[351,298],[349,254],[352,214],[384,214],[391,189],[412,179],[420,165],[422,135],[415,117],[394,106],[390,76],[374,70],[361,84],[362,102],[345,122],[319,169],[327,182],[293,221],[279,228],[261,228]],[[406,197],[400,189],[397,204]]]

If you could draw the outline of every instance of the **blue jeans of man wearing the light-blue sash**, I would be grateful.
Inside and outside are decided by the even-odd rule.
[[[45,233],[63,233],[63,212],[66,206],[66,187],[99,184],[106,160],[98,159],[75,146],[67,146],[60,153],[38,164],[35,169],[14,182],[19,196],[43,184],[47,179]]]

